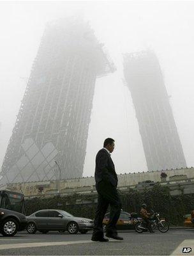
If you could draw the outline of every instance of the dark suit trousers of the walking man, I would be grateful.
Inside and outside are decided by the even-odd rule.
[[[121,200],[117,193],[117,188],[110,182],[101,180],[96,184],[98,192],[98,205],[94,218],[93,237],[103,237],[103,218],[110,205],[110,216],[107,225],[108,234],[117,234],[116,223],[121,212]]]

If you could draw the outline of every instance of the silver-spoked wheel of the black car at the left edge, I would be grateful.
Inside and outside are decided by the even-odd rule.
[[[14,236],[17,233],[18,223],[16,220],[8,218],[3,221],[1,227],[1,234],[3,234],[3,236]]]

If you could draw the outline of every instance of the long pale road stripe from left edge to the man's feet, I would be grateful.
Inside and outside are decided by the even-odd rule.
[[[93,241],[61,241],[61,242],[45,242],[45,243],[22,243],[22,244],[0,244],[0,250],[27,248],[27,247],[41,247],[41,246],[54,246],[54,245],[68,245],[68,244],[84,244],[96,243]]]

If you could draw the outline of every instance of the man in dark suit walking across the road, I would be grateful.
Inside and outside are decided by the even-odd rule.
[[[98,205],[94,218],[94,230],[92,241],[108,242],[103,237],[103,218],[110,204],[110,217],[107,225],[107,237],[123,240],[117,235],[116,223],[121,212],[121,201],[117,193],[117,174],[114,163],[110,157],[115,147],[114,140],[107,138],[103,148],[96,155],[95,180],[98,192]]]

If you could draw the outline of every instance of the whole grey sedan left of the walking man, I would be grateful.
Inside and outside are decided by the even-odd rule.
[[[62,210],[45,209],[27,216],[26,229],[29,234],[36,233],[36,230],[43,234],[51,230],[68,231],[70,234],[77,234],[79,231],[86,234],[93,228],[93,225],[93,220],[75,217]]]

